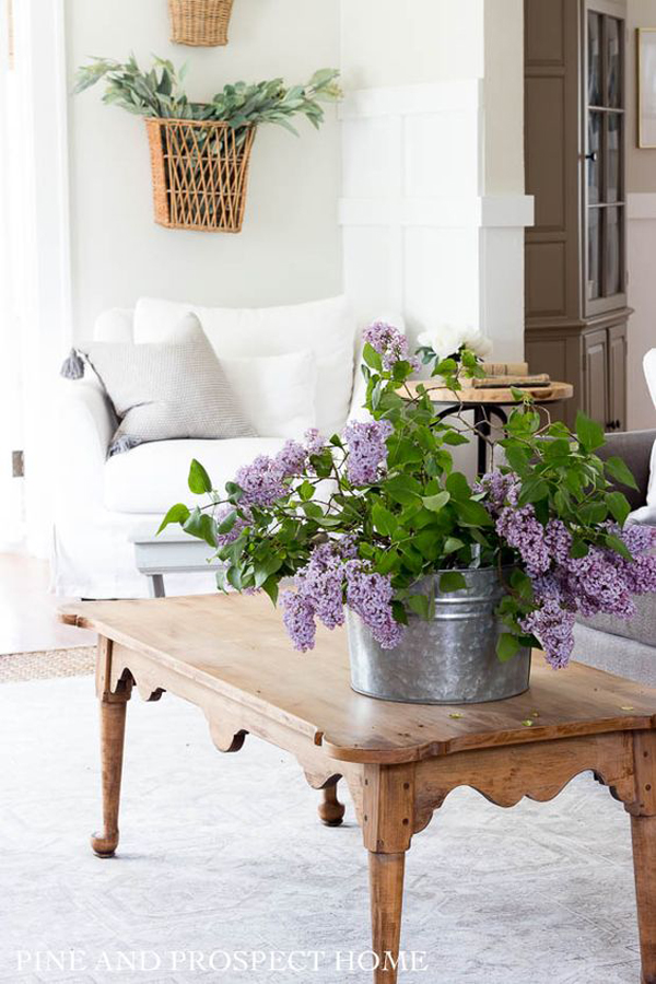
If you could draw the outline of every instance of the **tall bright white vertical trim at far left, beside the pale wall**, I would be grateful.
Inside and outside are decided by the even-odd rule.
[[[31,552],[47,557],[56,458],[52,396],[70,345],[71,257],[65,0],[14,5],[15,72],[23,120],[21,276],[14,291],[23,339],[25,514]]]

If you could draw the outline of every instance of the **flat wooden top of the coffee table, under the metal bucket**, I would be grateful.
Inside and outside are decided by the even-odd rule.
[[[656,726],[656,689],[582,664],[554,671],[541,656],[530,690],[506,701],[456,707],[362,696],[350,688],[345,631],[319,626],[316,648],[296,653],[281,612],[262,596],[80,601],[60,619],[137,651],[169,680],[191,679],[223,695],[245,730],[249,713],[265,715],[348,762],[413,762]]]

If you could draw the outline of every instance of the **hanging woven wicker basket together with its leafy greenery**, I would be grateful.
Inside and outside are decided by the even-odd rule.
[[[142,72],[96,58],[78,70],[75,91],[105,79],[105,103],[147,117],[155,222],[168,229],[242,230],[250,150],[258,125],[278,124],[296,133],[290,118],[306,116],[317,129],[321,103],[340,96],[336,69],[320,69],[306,85],[282,79],[225,85],[210,102],[192,103],[181,84],[186,67],[156,58]]]

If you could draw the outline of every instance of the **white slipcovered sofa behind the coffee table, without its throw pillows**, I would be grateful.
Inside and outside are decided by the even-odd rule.
[[[191,458],[204,465],[215,488],[222,488],[242,465],[259,454],[276,454],[289,436],[301,436],[294,429],[311,424],[329,435],[362,406],[362,386],[353,391],[358,332],[345,297],[260,309],[203,308],[141,298],[133,311],[115,308],[101,315],[94,339],[160,342],[190,311],[198,315],[220,360],[271,356],[269,378],[262,378],[260,365],[246,396],[242,386],[243,405],[265,396],[271,400],[277,393],[282,405],[300,380],[285,377],[289,360],[273,356],[312,353],[314,406],[305,399],[303,420],[283,421],[288,425],[282,427],[279,421],[280,436],[157,441],[108,458],[116,419],[97,377],[87,370],[84,379],[61,380],[52,551],[52,588],[58,595],[147,597],[147,581],[134,565],[130,537],[144,527],[154,534],[171,505],[192,501],[187,488]],[[243,367],[248,370],[248,363]],[[212,586],[209,574],[167,579],[169,593],[211,590]]]

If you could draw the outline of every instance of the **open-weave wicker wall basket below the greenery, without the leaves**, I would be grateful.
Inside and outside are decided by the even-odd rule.
[[[145,120],[155,222],[167,229],[242,231],[255,127]]]

